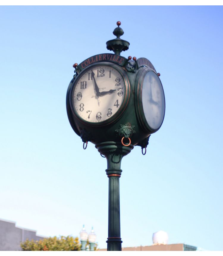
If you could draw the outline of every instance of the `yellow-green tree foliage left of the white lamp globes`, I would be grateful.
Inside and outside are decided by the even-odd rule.
[[[23,251],[80,251],[81,249],[78,237],[72,236],[60,236],[59,238],[54,236],[39,241],[26,239],[20,246]]]

